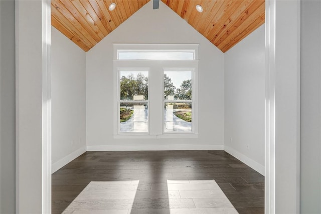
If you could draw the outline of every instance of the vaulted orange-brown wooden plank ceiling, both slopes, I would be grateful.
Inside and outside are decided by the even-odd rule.
[[[138,11],[149,0],[52,0],[52,26],[84,51]],[[162,0],[222,52],[264,23],[264,0]],[[108,7],[116,4],[113,11]],[[196,11],[196,5],[203,12]],[[152,10],[152,8],[150,8]]]

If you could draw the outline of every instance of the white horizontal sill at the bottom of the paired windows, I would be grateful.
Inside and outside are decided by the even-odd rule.
[[[198,138],[199,134],[115,134],[114,139],[169,139],[169,138]]]

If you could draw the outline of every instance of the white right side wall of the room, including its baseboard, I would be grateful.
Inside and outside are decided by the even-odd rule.
[[[224,149],[264,174],[264,25],[225,53]]]

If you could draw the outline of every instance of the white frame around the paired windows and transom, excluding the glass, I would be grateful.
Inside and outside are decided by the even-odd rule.
[[[161,48],[160,48],[161,47]],[[184,48],[185,47],[185,48]],[[195,60],[117,60],[118,50],[191,50],[195,49]],[[164,49],[167,48],[167,49]],[[198,44],[114,44],[113,76],[114,76],[114,138],[198,138]],[[157,70],[156,70],[157,69]],[[121,71],[147,71],[148,72],[148,132],[120,132],[120,72]],[[192,131],[191,132],[165,132],[164,118],[164,72],[165,71],[192,71]],[[154,72],[154,73],[153,73]],[[157,74],[155,74],[157,73]],[[162,75],[162,80],[156,76]],[[158,87],[152,86],[151,80],[157,81]],[[156,84],[155,84],[156,85]],[[152,97],[152,96],[157,96]],[[158,97],[159,96],[159,97]],[[136,101],[134,101],[136,102]],[[140,101],[137,101],[140,102]],[[176,102],[176,101],[174,101]],[[184,101],[183,101],[184,102]],[[186,101],[185,101],[186,102]],[[188,101],[190,102],[190,101]],[[151,106],[161,104],[160,107]],[[117,112],[117,113],[116,113]],[[160,119],[160,117],[162,117]],[[157,122],[158,121],[158,122]],[[162,124],[159,124],[162,123]]]

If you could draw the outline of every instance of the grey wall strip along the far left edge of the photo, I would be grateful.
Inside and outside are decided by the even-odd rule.
[[[15,213],[16,164],[16,102],[15,102],[15,1],[0,1],[1,5],[1,209],[0,213]]]

